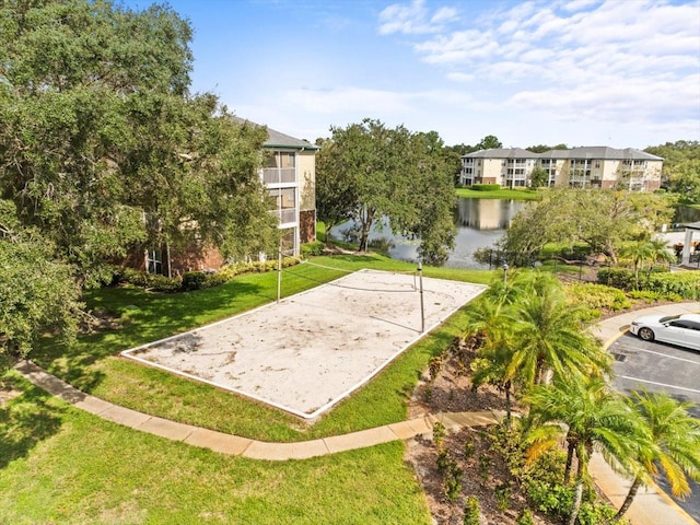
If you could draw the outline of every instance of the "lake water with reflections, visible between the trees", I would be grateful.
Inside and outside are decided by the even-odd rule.
[[[477,248],[490,247],[501,238],[515,214],[527,206],[527,201],[502,199],[457,199],[455,224],[457,236],[455,247],[443,266],[447,268],[486,269],[488,266],[475,261],[471,255]],[[700,210],[681,206],[676,211],[674,223],[698,222]],[[352,225],[347,222],[330,231],[335,238],[342,238],[342,231]],[[417,240],[395,235],[388,225],[373,228],[370,241],[386,240],[389,244],[388,255],[392,258],[418,261]]]

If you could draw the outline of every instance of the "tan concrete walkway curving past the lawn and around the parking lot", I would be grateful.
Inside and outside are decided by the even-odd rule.
[[[598,323],[595,335],[605,341],[605,348],[607,349],[618,337],[627,331],[629,324],[635,317],[685,312],[700,312],[700,303],[676,303],[626,313]],[[432,427],[436,421],[443,422],[450,430],[456,430],[464,427],[493,424],[499,420],[499,416],[491,411],[441,412],[345,435],[334,435],[296,443],[267,443],[183,424],[119,407],[70,386],[30,361],[20,362],[15,369],[33,384],[44,388],[51,395],[108,421],[162,438],[183,441],[194,446],[210,448],[222,454],[240,455],[254,459],[306,459],[390,441],[408,440],[417,435],[431,433]],[[614,472],[599,455],[594,455],[590,465],[590,472],[596,485],[610,501],[619,506],[627,494],[630,481]],[[640,489],[626,517],[631,525],[698,525],[698,522],[692,520],[656,486]]]

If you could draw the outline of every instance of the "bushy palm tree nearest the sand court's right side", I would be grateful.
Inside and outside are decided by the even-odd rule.
[[[547,381],[550,372],[584,376],[609,371],[609,355],[584,329],[581,310],[569,303],[555,277],[537,273],[510,314],[515,347],[506,375],[534,385]]]

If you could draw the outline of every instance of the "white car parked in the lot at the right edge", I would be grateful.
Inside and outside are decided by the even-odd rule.
[[[663,341],[700,350],[700,314],[645,315],[630,325],[645,341]]]

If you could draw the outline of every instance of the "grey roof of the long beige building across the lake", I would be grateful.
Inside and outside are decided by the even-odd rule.
[[[663,161],[661,156],[652,155],[633,148],[618,150],[607,145],[587,145],[571,150],[549,150],[544,153],[523,150],[521,148],[479,150],[462,155],[463,159],[602,159],[619,161]]]

